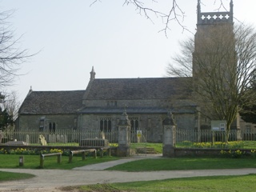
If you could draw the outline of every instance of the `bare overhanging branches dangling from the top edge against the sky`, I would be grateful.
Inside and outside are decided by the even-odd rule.
[[[91,6],[96,2],[101,2],[101,0],[94,0],[91,3]],[[182,27],[182,30],[188,30],[186,26],[184,26],[183,21],[186,16],[184,10],[180,6],[180,0],[170,0],[170,8],[165,10],[158,10],[156,8],[156,4],[160,4],[162,2],[158,2],[156,0],[146,1],[146,0],[123,0],[123,5],[134,6],[135,10],[138,11],[138,14],[142,14],[147,19],[153,21],[153,18],[162,18],[163,28],[160,31],[164,31],[167,33],[167,30],[171,29],[171,23],[176,22],[179,26]],[[194,0],[196,2],[196,0]],[[198,3],[203,4],[201,0],[198,0]],[[218,5],[218,10],[225,9],[223,0],[214,0],[214,4]],[[168,5],[169,6],[169,5]],[[167,35],[167,34],[166,34]]]

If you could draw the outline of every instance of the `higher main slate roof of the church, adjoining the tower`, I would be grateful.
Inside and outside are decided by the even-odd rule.
[[[184,81],[190,78],[95,78],[86,90],[86,100],[166,99],[187,97]]]

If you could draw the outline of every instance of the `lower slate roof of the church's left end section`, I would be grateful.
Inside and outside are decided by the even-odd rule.
[[[85,90],[32,91],[19,109],[20,114],[74,114],[82,107]]]

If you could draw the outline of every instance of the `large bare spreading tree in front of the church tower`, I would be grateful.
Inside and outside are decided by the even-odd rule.
[[[193,77],[187,86],[193,88],[194,101],[207,117],[226,120],[228,139],[243,106],[256,102],[255,91],[248,90],[256,70],[256,31],[252,26],[233,30],[230,25],[213,25],[205,35],[182,42],[181,54],[169,64],[167,74]]]

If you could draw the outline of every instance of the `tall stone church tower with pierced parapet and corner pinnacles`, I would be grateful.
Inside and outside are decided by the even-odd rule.
[[[230,11],[202,12],[198,0],[193,53],[194,99],[201,106],[202,114],[212,120],[224,118],[219,111],[228,106],[220,103],[216,96],[229,102],[232,100],[230,91],[235,89],[233,6],[230,0]],[[204,120],[201,125],[209,127],[209,123]]]

